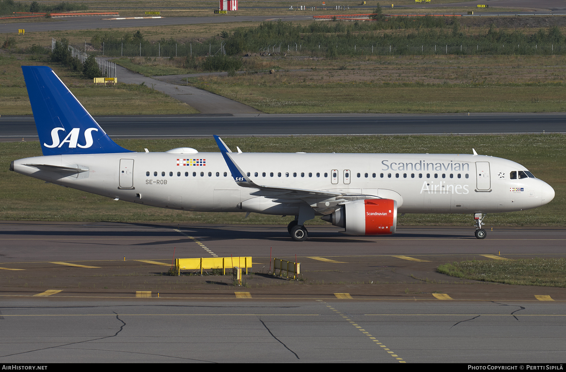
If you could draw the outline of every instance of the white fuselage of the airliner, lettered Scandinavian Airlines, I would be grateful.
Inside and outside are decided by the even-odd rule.
[[[391,198],[397,201],[399,213],[516,211],[541,206],[554,197],[554,190],[542,180],[511,179],[512,172],[527,171],[524,166],[485,155],[231,154],[255,184]],[[70,175],[31,164],[81,166],[88,171]],[[274,202],[257,189],[239,187],[221,153],[51,155],[19,159],[14,170],[156,207],[295,213],[293,201]],[[278,204],[288,208],[273,207]]]

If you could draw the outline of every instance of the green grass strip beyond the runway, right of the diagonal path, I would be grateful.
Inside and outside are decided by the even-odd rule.
[[[263,75],[242,83],[231,81],[238,78],[202,78],[205,81],[194,85],[268,114],[566,111],[566,95],[561,83],[466,86],[357,82],[319,84],[305,81],[286,84],[271,76]]]

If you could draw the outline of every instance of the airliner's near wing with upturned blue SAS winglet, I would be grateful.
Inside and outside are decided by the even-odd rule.
[[[307,189],[293,189],[293,188],[285,188],[285,187],[273,187],[273,186],[266,186],[266,185],[258,185],[254,181],[252,181],[246,173],[242,171],[242,169],[236,164],[234,159],[231,157],[230,149],[224,141],[220,139],[218,136],[214,136],[216,144],[226,161],[226,165],[230,169],[232,177],[234,181],[242,187],[250,187],[258,189],[259,192],[252,193],[253,195],[258,196],[267,196],[272,198],[332,198],[337,196],[342,196],[344,194],[339,192],[330,192],[330,191],[320,191],[320,190],[307,190]]]

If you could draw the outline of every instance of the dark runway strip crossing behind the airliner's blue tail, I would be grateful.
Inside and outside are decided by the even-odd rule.
[[[566,114],[98,116],[111,137],[564,133]],[[31,116],[2,116],[0,140],[37,139]]]

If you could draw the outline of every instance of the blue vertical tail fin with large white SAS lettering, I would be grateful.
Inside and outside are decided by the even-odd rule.
[[[47,66],[22,66],[44,155],[130,153],[106,135]]]

